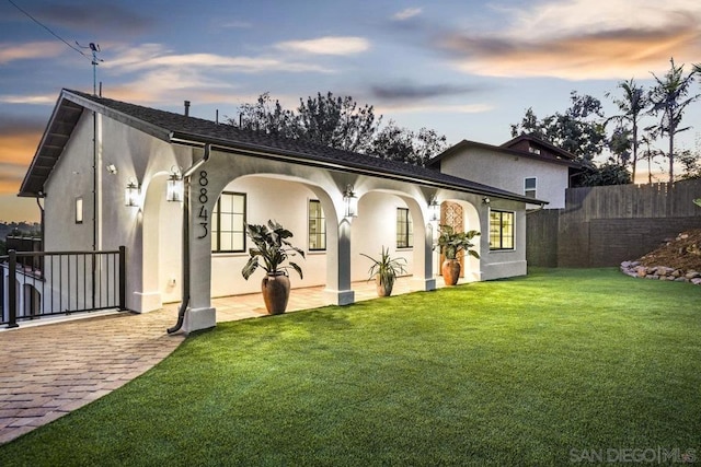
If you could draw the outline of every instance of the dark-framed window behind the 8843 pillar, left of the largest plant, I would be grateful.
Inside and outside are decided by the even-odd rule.
[[[211,211],[211,250],[245,252],[245,194],[223,191]]]

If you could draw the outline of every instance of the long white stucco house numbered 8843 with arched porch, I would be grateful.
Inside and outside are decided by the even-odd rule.
[[[241,276],[244,224],[269,219],[307,253],[292,288],[323,285],[329,304],[354,302],[360,253],[382,246],[435,289],[438,222],[482,232],[464,281],[526,273],[530,197],[78,91],[60,93],[20,196],[44,202],[47,252],[125,246],[127,308],[182,301],[186,332],[215,326],[212,297],[260,291],[262,272]]]

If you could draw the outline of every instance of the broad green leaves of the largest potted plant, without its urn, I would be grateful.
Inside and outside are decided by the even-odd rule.
[[[292,268],[302,279],[302,269],[299,265],[292,261],[289,261],[289,265],[283,265],[289,256],[299,254],[302,258],[304,257],[303,250],[287,241],[292,236],[290,231],[272,220],[267,221],[267,225],[246,224],[245,229],[246,235],[255,244],[255,248],[249,250],[251,257],[241,270],[244,279],[248,280],[258,267],[269,276],[287,276],[287,270]],[[258,261],[258,258],[263,259],[263,264]]]

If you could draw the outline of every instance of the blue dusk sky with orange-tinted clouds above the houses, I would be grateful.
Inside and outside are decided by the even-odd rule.
[[[700,63],[701,3],[0,0],[0,220],[38,220],[15,194],[60,90],[92,92],[90,49],[76,43],[100,45],[105,97],[179,113],[188,100],[214,120],[264,92],[292,108],[331,91],[450,144],[501,144],[528,107],[564,112],[576,90],[613,115],[605,94],[620,81],[650,86],[670,57]],[[701,103],[685,124],[681,145],[696,149]]]

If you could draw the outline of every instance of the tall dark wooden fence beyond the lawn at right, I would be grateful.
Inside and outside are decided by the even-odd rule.
[[[618,266],[701,229],[701,180],[568,189],[565,208],[527,217],[530,266]]]

